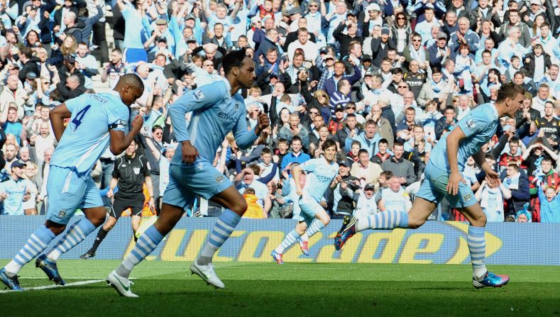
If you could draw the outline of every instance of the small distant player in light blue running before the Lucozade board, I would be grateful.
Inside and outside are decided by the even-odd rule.
[[[294,204],[300,205],[300,216],[297,219],[298,223],[295,229],[286,235],[286,238],[275,250],[270,252],[273,259],[280,265],[284,263],[282,260],[284,251],[299,240],[306,231],[310,237],[318,233],[331,221],[329,214],[319,204],[319,201],[321,201],[326,189],[329,187],[331,189],[336,188],[336,185],[341,181],[339,165],[334,162],[336,143],[333,140],[326,140],[322,145],[322,150],[323,157],[308,160],[302,165],[294,167],[293,176],[296,193],[299,197],[299,200],[295,201]],[[302,171],[307,173],[303,189],[300,184]],[[309,226],[309,229],[307,229],[307,226]]]

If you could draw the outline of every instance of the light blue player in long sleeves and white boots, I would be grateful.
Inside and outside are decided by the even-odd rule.
[[[224,288],[224,283],[214,272],[212,257],[234,231],[247,210],[247,203],[229,179],[212,166],[212,161],[229,131],[233,130],[240,148],[248,148],[270,123],[268,116],[260,113],[255,128],[247,129],[245,103],[237,92],[251,87],[256,75],[253,60],[245,56],[245,49],[229,52],[221,63],[226,73],[223,80],[190,91],[170,106],[171,124],[179,147],[170,162],[169,184],[163,194],[160,217],[107,277],[109,284],[122,296],[138,297],[132,293],[128,280],[133,267],[157,248],[197,196],[212,200],[226,210],[216,221],[202,253],[192,262],[190,270],[208,284]],[[188,128],[187,112],[192,112]]]

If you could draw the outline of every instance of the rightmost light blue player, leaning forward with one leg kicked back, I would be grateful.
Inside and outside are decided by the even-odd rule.
[[[520,109],[524,94],[525,89],[519,85],[503,84],[495,104],[482,104],[467,113],[453,130],[441,137],[432,150],[424,170],[424,182],[416,194],[412,209],[408,213],[383,211],[359,220],[347,216],[336,235],[334,248],[340,250],[352,235],[366,229],[419,228],[445,197],[451,208],[458,208],[470,223],[467,244],[473,265],[473,286],[480,289],[507,284],[510,277],[493,274],[486,269],[486,216],[461,173],[468,157],[472,155],[476,164],[486,173],[486,182],[490,187],[499,185],[499,174],[488,165],[481,148],[496,133],[500,118],[513,117]]]

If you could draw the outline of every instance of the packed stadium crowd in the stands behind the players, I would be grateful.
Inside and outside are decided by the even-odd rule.
[[[162,196],[168,106],[221,80],[221,56],[245,48],[257,76],[241,91],[247,121],[264,111],[272,124],[248,150],[226,138],[214,165],[236,181],[246,216],[290,218],[290,169],[329,138],[344,180],[322,201],[331,216],[407,210],[441,135],[513,81],[523,109],[483,148],[502,185],[490,189],[472,159],[463,177],[488,221],[560,222],[559,16],[557,0],[1,0],[1,213],[41,214],[56,199],[45,192],[50,109],[128,72],[146,87],[131,118],[144,117],[138,153]],[[114,161],[107,150],[92,170],[102,196]],[[219,213],[199,199],[186,214]],[[445,201],[431,218],[464,220]]]

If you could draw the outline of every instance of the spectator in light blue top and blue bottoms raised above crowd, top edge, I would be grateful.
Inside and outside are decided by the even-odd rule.
[[[142,34],[144,27],[142,25],[142,3],[136,3],[136,7],[130,2],[124,0],[116,0],[116,5],[121,11],[121,14],[126,22],[123,42],[123,55],[125,62],[146,62],[148,60],[148,53],[144,48],[144,41]]]

